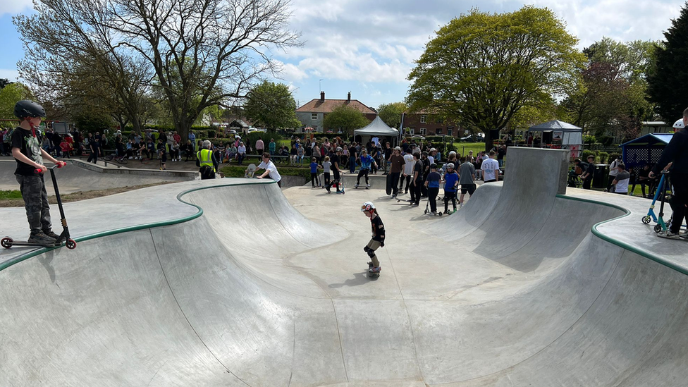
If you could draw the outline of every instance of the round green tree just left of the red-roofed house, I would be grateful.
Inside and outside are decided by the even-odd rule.
[[[300,128],[296,107],[287,85],[263,81],[248,92],[244,113],[254,126],[268,130]]]

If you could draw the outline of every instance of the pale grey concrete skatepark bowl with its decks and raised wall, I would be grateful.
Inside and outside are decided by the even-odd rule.
[[[76,250],[0,256],[0,386],[684,386],[686,242],[646,200],[557,195],[563,151],[512,150],[442,218],[245,179],[67,204]]]

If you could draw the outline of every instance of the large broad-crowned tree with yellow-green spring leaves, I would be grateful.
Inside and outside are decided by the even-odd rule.
[[[441,116],[485,133],[500,130],[523,106],[538,106],[575,82],[584,56],[577,39],[547,8],[512,13],[472,9],[441,27],[408,79],[412,110]]]

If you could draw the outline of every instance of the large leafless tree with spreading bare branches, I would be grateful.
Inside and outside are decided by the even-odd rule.
[[[262,75],[276,72],[271,50],[300,44],[288,30],[288,6],[286,0],[43,0],[37,15],[15,23],[27,45],[25,65],[40,63],[32,72],[39,77],[49,77],[45,69],[56,67],[49,61],[60,56],[110,63],[108,76],[123,83],[126,77],[114,75],[129,73],[128,65],[149,70],[155,82],[148,85],[163,90],[185,136],[203,109],[245,97]],[[133,110],[126,87],[115,85]]]

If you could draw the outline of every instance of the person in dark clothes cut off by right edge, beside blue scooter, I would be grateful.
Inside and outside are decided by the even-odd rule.
[[[669,163],[672,163],[670,168],[670,178],[672,183],[673,199],[671,209],[673,211],[671,226],[667,231],[658,233],[662,238],[669,239],[687,239],[688,233],[679,235],[683,218],[686,214],[686,206],[688,206],[688,132],[686,126],[688,125],[688,109],[683,111],[682,120],[674,123],[675,133],[671,140],[664,148],[662,156],[657,161],[657,164],[652,168],[649,177],[653,178],[657,173],[662,171]]]

